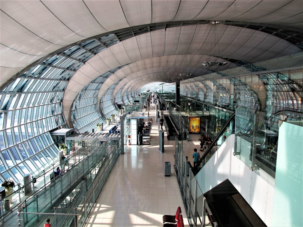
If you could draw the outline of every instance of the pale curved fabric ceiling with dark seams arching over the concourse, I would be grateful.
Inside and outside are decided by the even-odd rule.
[[[124,66],[102,85],[99,100],[117,81],[116,90],[138,90],[185,70],[196,77],[236,67],[237,61],[255,63],[302,51],[301,0],[1,0],[0,8],[1,86],[71,44],[119,31],[114,33],[119,42],[86,61],[69,81],[65,117],[86,84],[117,67]],[[209,21],[220,21],[216,32]],[[126,29],[132,33],[123,38]],[[228,64],[202,66],[210,56],[222,62],[224,57]]]

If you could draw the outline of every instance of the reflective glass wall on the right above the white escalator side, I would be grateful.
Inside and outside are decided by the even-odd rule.
[[[292,62],[291,59],[288,60]],[[251,68],[246,66],[245,69],[239,67],[238,71],[233,69],[221,72],[220,75],[226,78],[198,81],[197,77],[196,81],[182,82],[180,91],[183,96],[187,94],[187,97],[181,99],[181,111],[190,102],[192,114],[205,116],[205,119],[207,115],[214,115],[215,119],[208,117],[205,127],[201,126],[205,131],[213,132],[220,130],[220,111],[236,111],[235,154],[248,166],[253,166],[258,174],[266,172],[262,177],[268,179],[275,177],[279,125],[284,120],[303,120],[303,69],[267,72],[261,65],[267,64],[259,63]],[[257,70],[261,71],[256,73]],[[226,74],[239,74],[240,71],[245,72],[245,75]],[[205,94],[204,100],[188,99],[202,93]]]

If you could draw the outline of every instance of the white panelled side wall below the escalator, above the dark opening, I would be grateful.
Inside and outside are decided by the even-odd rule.
[[[238,157],[232,155],[234,143],[235,135],[229,136],[196,175],[198,184],[205,193],[225,179],[229,179],[251,208],[268,225],[271,223],[274,187],[256,172],[251,171]]]

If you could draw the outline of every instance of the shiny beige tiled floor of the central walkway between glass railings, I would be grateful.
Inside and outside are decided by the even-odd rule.
[[[154,110],[151,106],[151,110]],[[149,113],[154,113],[150,111]],[[181,206],[184,224],[188,225],[185,208],[174,170],[175,140],[165,135],[164,153],[159,153],[158,123],[153,118],[150,145],[131,145],[120,155],[97,202],[86,221],[92,226],[162,226],[162,216],[174,215]],[[184,141],[191,154],[199,142]],[[199,150],[199,149],[198,149]],[[171,162],[171,176],[164,176],[164,162]]]

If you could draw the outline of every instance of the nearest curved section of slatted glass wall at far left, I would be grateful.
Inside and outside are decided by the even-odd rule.
[[[62,99],[68,80],[95,54],[117,42],[115,34],[108,34],[72,44],[29,66],[2,88],[1,181],[11,178],[20,182],[23,175],[38,174],[52,166],[58,147],[49,131],[65,127]]]

